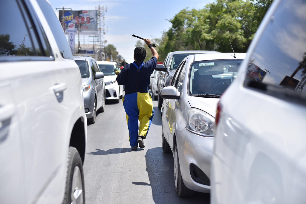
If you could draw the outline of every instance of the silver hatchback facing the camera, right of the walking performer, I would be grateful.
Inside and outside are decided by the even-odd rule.
[[[175,191],[210,192],[217,103],[237,76],[245,53],[189,55],[162,89],[162,150],[173,153]]]

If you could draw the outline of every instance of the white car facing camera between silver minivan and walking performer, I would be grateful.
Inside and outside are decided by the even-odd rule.
[[[123,98],[123,85],[118,85],[116,80],[117,75],[114,72],[118,68],[116,62],[111,61],[97,61],[97,64],[104,73],[104,82],[106,89],[106,100],[114,100],[119,103],[119,99]]]

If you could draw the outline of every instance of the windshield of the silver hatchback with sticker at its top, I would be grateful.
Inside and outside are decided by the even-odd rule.
[[[242,59],[197,61],[189,72],[189,94],[222,95],[237,76]]]

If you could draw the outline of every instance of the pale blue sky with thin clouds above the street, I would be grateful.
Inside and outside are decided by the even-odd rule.
[[[202,9],[205,5],[215,0],[49,0],[55,13],[55,8],[72,8],[73,10],[95,10],[100,6],[107,6],[105,13],[105,28],[107,32],[104,36],[106,44],[113,44],[119,54],[128,63],[132,63],[133,50],[136,41],[132,34],[143,38],[160,38],[163,31],[167,31],[171,24],[166,19],[172,19],[175,14],[184,8]],[[77,38],[77,37],[76,37]],[[90,43],[92,38],[85,38],[85,43]],[[83,43],[80,37],[80,43]],[[92,42],[91,42],[92,43]],[[154,43],[154,42],[152,42]]]

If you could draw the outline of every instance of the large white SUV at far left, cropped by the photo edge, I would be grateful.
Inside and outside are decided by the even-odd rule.
[[[84,203],[87,120],[62,27],[45,0],[2,1],[0,18],[0,202]]]

